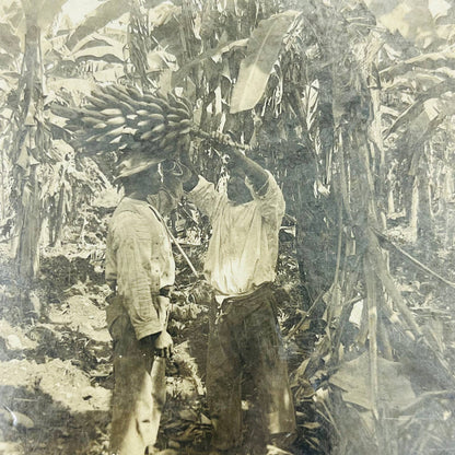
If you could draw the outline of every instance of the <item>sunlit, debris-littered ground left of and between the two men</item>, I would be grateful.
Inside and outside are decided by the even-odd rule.
[[[82,230],[67,232],[61,244],[42,252],[32,305],[25,308],[8,243],[0,244],[0,454],[107,455],[114,384],[105,323],[109,289],[103,276],[108,215],[108,210],[92,213]],[[200,267],[203,247],[183,244]],[[179,454],[206,454],[211,423],[203,387],[210,298],[178,252],[176,256],[180,285],[173,294],[170,322],[176,352],[166,368],[167,404],[159,445]],[[296,283],[295,265],[287,267],[293,267]],[[282,295],[290,304],[292,285],[288,288]],[[285,312],[281,319],[287,322]]]

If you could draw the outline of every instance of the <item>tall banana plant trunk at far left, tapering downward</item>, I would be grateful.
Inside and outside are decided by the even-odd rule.
[[[11,195],[16,212],[14,254],[20,287],[24,291],[21,299],[24,305],[27,304],[26,295],[39,265],[37,238],[43,217],[39,180],[43,155],[51,142],[43,117],[42,38],[65,2],[43,0],[38,3],[28,0],[11,3],[14,18],[19,18],[18,31],[24,27],[22,67],[15,100],[11,105],[15,130],[10,151],[15,179],[15,190]]]

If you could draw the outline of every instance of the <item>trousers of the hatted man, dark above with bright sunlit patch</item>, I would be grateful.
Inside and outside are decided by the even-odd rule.
[[[109,454],[143,455],[156,442],[165,401],[164,368],[155,365],[152,380],[153,354],[139,349],[129,320],[118,319],[122,320],[116,320],[112,330],[115,387]]]

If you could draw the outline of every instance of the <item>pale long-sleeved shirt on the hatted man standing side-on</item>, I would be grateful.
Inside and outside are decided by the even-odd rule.
[[[158,212],[145,201],[125,197],[109,223],[106,280],[116,281],[118,311],[126,311],[138,339],[164,329],[156,296],[174,284],[171,240]]]

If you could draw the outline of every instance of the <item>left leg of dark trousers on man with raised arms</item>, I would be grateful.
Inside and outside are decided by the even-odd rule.
[[[229,450],[241,443],[242,370],[238,352],[226,323],[211,325],[207,357],[207,399],[213,425],[211,444]]]

